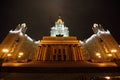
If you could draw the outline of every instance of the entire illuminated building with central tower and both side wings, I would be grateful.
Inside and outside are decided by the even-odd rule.
[[[32,61],[112,61],[120,58],[120,48],[110,31],[99,24],[92,27],[94,34],[85,41],[70,36],[61,18],[51,28],[50,36],[35,41],[26,34],[26,24],[10,30],[0,44],[0,58]]]

